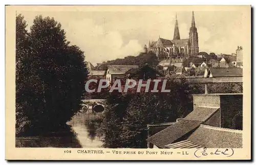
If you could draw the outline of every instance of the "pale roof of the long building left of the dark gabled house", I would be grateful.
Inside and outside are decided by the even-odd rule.
[[[139,68],[138,65],[108,65],[110,74],[125,74],[132,68]]]

